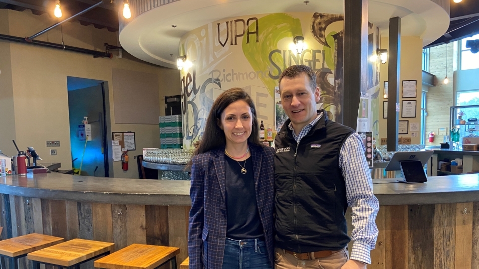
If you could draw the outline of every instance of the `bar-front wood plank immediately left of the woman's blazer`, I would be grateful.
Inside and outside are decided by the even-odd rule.
[[[170,247],[186,250],[176,257],[177,264],[181,264],[188,257],[188,226],[185,226],[185,224],[188,224],[190,208],[186,206],[168,207]]]

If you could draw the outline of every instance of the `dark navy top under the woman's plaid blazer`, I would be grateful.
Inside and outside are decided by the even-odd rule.
[[[244,165],[246,173],[241,173]],[[240,164],[225,155],[226,168],[226,237],[242,240],[264,237],[263,226],[259,218],[254,188],[253,163],[251,157]]]

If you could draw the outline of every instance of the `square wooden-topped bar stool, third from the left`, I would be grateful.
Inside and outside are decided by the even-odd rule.
[[[173,269],[177,269],[178,254],[179,248],[132,244],[96,260],[93,265],[104,269],[155,269],[171,261]]]

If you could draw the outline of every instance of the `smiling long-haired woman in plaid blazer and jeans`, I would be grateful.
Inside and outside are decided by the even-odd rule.
[[[258,129],[242,89],[213,103],[192,158],[190,269],[272,268],[274,153]]]

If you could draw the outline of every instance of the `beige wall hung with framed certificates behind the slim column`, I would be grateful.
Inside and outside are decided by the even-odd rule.
[[[381,48],[389,47],[388,37],[381,38]],[[422,49],[423,40],[418,36],[402,36],[401,37],[401,70],[400,70],[400,92],[399,92],[399,104],[401,105],[402,95],[402,81],[403,80],[417,80],[417,98],[404,99],[404,100],[416,100],[416,118],[401,118],[401,112],[399,113],[400,121],[409,121],[411,123],[421,124],[421,85],[422,85]],[[384,99],[384,81],[388,80],[388,63],[380,64],[380,87],[381,93],[379,95],[379,138],[387,137],[387,119],[383,119],[383,101]],[[402,109],[402,105],[401,105]],[[421,132],[418,132],[421,135]],[[399,137],[411,137],[411,144],[420,144],[421,137],[411,137],[411,128],[409,128],[409,134],[400,134]],[[381,144],[381,141],[378,141]]]

